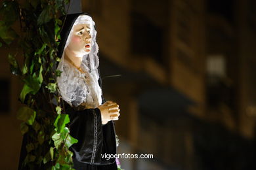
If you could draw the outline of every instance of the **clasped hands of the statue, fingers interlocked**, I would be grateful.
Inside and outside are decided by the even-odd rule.
[[[110,120],[118,120],[120,109],[117,103],[106,101],[104,104],[98,106],[98,109],[100,109],[102,124],[107,124]]]

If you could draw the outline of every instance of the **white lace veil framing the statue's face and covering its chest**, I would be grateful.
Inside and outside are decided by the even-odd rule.
[[[64,51],[70,43],[74,26],[77,24],[89,24],[91,28],[91,52],[83,56],[81,69],[85,73],[81,73],[73,65],[64,59]],[[60,77],[57,78],[58,88],[62,99],[69,103],[72,107],[95,108],[102,103],[102,90],[98,84],[98,44],[96,43],[95,22],[91,16],[81,14],[75,20],[74,25],[68,35],[62,57],[57,69],[62,71]]]

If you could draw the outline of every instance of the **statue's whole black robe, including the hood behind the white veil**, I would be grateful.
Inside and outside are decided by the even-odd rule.
[[[69,14],[66,18],[59,46],[59,56],[61,56],[65,42],[68,38],[72,25],[79,14]],[[100,73],[100,71],[98,71]],[[101,78],[98,83],[101,87]],[[102,103],[104,103],[102,95]],[[75,110],[64,101],[65,113],[70,116],[70,135],[78,139],[78,143],[70,146],[70,150],[74,153],[74,169],[117,169],[115,158],[109,160],[102,158],[102,154],[116,154],[116,132],[114,122],[110,121],[106,125],[102,125],[100,110],[85,109]],[[27,169],[22,167],[22,161],[26,158],[26,134],[23,137],[22,148],[20,152],[20,162],[18,169]]]

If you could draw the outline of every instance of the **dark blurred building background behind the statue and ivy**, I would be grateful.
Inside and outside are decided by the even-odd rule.
[[[154,159],[122,159],[124,169],[254,168],[253,0],[82,5],[98,31],[104,96],[121,109],[118,152],[154,154]],[[1,54],[8,50],[1,48]],[[22,83],[11,76],[7,58],[0,73],[0,167],[16,169]]]

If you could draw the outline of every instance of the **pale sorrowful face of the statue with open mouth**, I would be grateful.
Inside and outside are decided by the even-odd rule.
[[[75,54],[89,54],[91,51],[90,25],[78,24],[73,30],[68,48]]]

